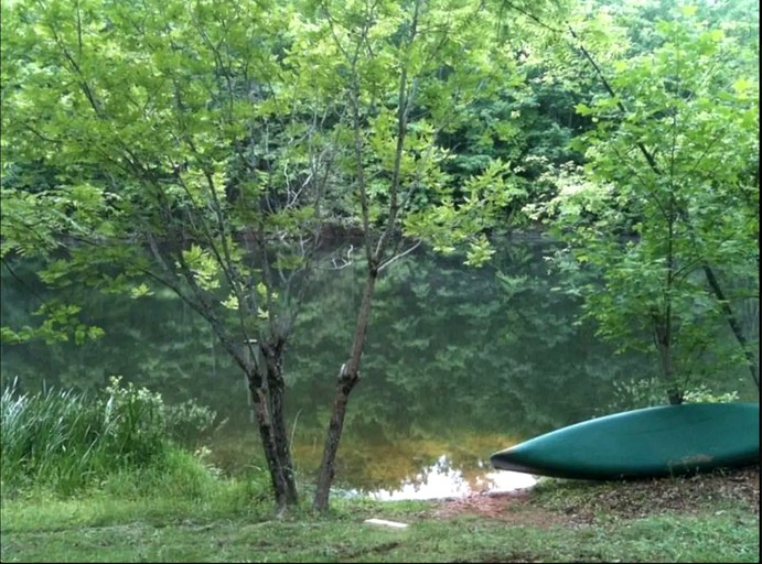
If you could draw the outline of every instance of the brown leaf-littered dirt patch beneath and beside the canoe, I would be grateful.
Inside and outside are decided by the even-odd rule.
[[[566,487],[570,491],[573,489],[573,494],[562,495]],[[663,511],[691,512],[727,500],[748,503],[759,514],[760,466],[686,478],[626,482],[573,484],[562,480],[557,492],[547,496],[530,488],[507,494],[474,494],[443,500],[434,510],[434,517],[472,513],[516,524],[573,527],[591,522],[598,512],[632,519]]]

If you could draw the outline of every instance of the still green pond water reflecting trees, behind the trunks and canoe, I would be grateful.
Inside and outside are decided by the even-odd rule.
[[[530,487],[534,477],[494,470],[490,455],[623,408],[614,383],[657,373],[652,355],[616,355],[579,321],[580,304],[558,291],[546,250],[507,245],[479,270],[421,250],[383,272],[339,451],[337,491],[409,499]],[[1,303],[3,324],[21,326],[43,289],[29,269],[17,274],[26,284],[3,272]],[[363,274],[362,264],[319,272],[287,350],[288,425],[303,482],[320,464]],[[30,391],[43,381],[95,389],[121,375],[168,402],[193,398],[224,421],[206,437],[216,466],[237,473],[261,465],[243,376],[187,306],[160,290],[86,302],[85,317],[106,330],[103,339],[3,346],[3,381],[19,376]],[[720,389],[755,398],[742,369],[725,377]]]

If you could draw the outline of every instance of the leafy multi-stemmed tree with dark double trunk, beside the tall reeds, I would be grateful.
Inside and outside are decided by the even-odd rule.
[[[40,273],[51,285],[170,288],[246,375],[276,502],[296,503],[282,364],[334,182],[321,128],[334,107],[282,62],[292,10],[51,1],[3,12],[3,260],[51,257]],[[25,189],[41,165],[54,182]]]

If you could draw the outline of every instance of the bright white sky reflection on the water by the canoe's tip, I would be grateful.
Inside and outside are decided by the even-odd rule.
[[[442,455],[436,464],[418,474],[415,480],[405,480],[395,490],[380,489],[371,492],[369,497],[382,501],[463,497],[480,491],[496,492],[530,488],[537,482],[537,479],[529,474],[487,470],[487,468],[484,470],[483,474],[466,479],[460,470],[451,468],[447,455]]]

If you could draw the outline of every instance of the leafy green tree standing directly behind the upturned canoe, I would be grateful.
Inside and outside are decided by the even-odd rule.
[[[580,47],[602,90],[578,111],[598,127],[576,141],[584,170],[559,176],[545,212],[569,241],[567,264],[604,280],[605,293],[587,295],[601,333],[623,348],[651,334],[679,403],[691,361],[717,346],[713,318],[728,321],[759,386],[731,308],[744,295],[726,295],[717,275],[759,284],[758,55],[744,25],[710,28],[694,7],[651,25],[653,48],[610,59]]]

